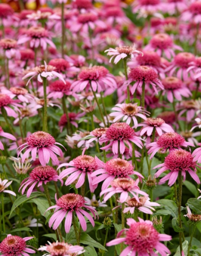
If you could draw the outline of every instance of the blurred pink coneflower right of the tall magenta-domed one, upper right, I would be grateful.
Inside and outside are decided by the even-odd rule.
[[[188,98],[192,95],[190,89],[184,85],[182,80],[174,76],[163,79],[162,84],[164,86],[163,95],[167,94],[167,99],[170,103],[173,103],[174,98],[181,101],[182,96]]]

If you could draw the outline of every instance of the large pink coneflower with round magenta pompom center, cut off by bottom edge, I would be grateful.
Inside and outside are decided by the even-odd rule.
[[[136,254],[140,256],[154,255],[155,250],[164,256],[170,254],[168,248],[160,241],[169,241],[171,236],[157,232],[151,221],[144,221],[140,217],[138,217],[138,220],[139,222],[131,218],[127,219],[127,225],[130,228],[120,231],[117,238],[106,245],[114,246],[124,242],[127,247],[121,252],[120,256],[129,254],[131,256]],[[121,237],[122,234],[125,234],[125,237]]]

